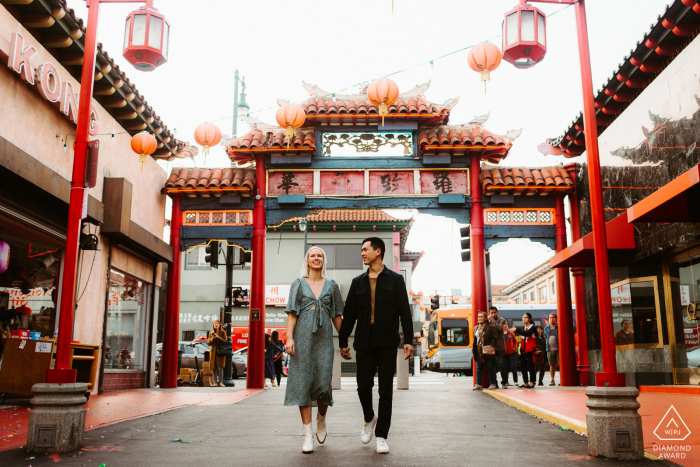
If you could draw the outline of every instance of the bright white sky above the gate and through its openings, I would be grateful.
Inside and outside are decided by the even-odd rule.
[[[596,89],[610,77],[641,40],[669,0],[587,1],[588,27]],[[253,115],[274,123],[276,98],[308,97],[301,81],[329,92],[371,81],[441,55],[489,40],[501,33],[503,15],[517,0],[156,0],[171,25],[169,62],[155,72],[135,70],[122,56],[124,21],[136,4],[104,4],[98,40],[124,70],[177,138],[194,142],[194,128],[212,121],[231,133],[233,72],[245,76]],[[81,0],[68,0],[87,20]],[[551,15],[561,5],[537,4]],[[432,81],[429,101],[461,96],[450,123],[466,123],[491,112],[484,125],[505,134],[523,128],[507,166],[547,166],[565,162],[542,156],[537,145],[561,135],[581,111],[580,74],[574,7],[547,23],[545,59],[528,70],[503,61],[491,73],[487,94],[479,74],[467,65],[467,51],[392,75],[399,89]],[[499,48],[500,37],[493,39]],[[355,92],[351,89],[346,92]],[[243,123],[238,133],[247,131]],[[568,161],[566,161],[568,162]],[[203,157],[197,166],[204,165]],[[173,163],[171,163],[172,166]],[[192,165],[176,161],[175,165]],[[206,166],[224,167],[222,147],[213,148]],[[170,168],[168,167],[168,171]],[[392,214],[396,214],[393,213]],[[169,214],[168,214],[169,215]],[[417,215],[407,248],[426,255],[413,276],[414,290],[471,289],[470,263],[459,255],[459,231],[450,220]],[[552,256],[551,250],[526,240],[511,240],[492,250],[493,284],[517,275]]]

